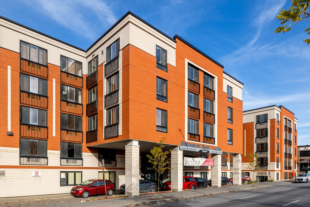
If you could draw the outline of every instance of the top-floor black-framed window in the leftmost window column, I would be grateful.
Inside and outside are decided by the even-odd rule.
[[[47,50],[20,41],[20,57],[42,65],[47,65]]]

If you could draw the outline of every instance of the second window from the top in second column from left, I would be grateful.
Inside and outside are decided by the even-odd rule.
[[[82,104],[82,89],[60,84],[60,99]]]

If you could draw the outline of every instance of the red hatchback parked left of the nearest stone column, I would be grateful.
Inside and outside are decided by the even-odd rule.
[[[90,179],[74,186],[70,194],[73,196],[82,196],[83,198],[98,194],[107,194],[111,196],[115,191],[112,181],[105,180],[105,187],[107,188],[107,193],[104,188],[104,180]]]

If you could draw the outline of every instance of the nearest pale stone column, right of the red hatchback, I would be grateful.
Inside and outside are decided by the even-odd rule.
[[[128,196],[139,195],[139,142],[132,140],[125,145],[125,189]]]

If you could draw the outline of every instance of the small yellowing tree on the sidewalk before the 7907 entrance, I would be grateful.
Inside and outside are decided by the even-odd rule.
[[[151,155],[146,155],[148,157],[148,162],[153,165],[153,169],[156,170],[158,173],[158,194],[157,197],[159,198],[159,176],[164,173],[166,170],[170,170],[170,168],[167,166],[168,162],[168,155],[171,152],[169,151],[163,151],[163,148],[165,147],[163,144],[165,143],[166,138],[163,137],[159,143],[159,147],[154,146],[153,149],[151,149],[150,153]]]

